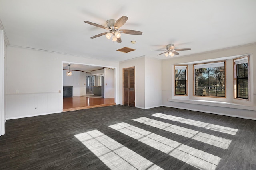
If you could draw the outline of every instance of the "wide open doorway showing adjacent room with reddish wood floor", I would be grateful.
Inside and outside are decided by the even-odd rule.
[[[67,62],[62,66],[63,111],[116,105],[115,68]]]

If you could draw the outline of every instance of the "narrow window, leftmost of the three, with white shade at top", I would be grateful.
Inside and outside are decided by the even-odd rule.
[[[187,66],[175,66],[175,95],[187,95]]]

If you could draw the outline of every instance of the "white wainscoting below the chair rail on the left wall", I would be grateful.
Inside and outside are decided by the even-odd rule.
[[[7,119],[61,112],[61,93],[6,94]]]

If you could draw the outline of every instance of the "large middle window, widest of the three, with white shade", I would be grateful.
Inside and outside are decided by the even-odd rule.
[[[225,97],[225,62],[194,65],[195,96]]]

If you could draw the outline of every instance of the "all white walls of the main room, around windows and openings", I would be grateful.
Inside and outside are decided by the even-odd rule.
[[[230,97],[230,94],[233,93],[230,88],[227,90],[228,97],[226,99],[214,98],[214,100],[217,102],[231,103],[230,105],[226,105],[227,107],[222,107],[223,109],[220,109],[221,107],[211,103],[199,102],[200,105],[198,105],[198,102],[193,103],[191,101],[182,101],[183,99],[212,100],[212,98],[193,96],[192,64],[188,64],[188,96],[184,96],[184,98],[177,98],[173,95],[174,64],[181,64],[184,63],[184,61],[199,62],[202,59],[216,59],[249,53],[251,80],[250,101],[234,100],[232,97]],[[166,59],[161,61],[162,68],[159,69],[160,61],[144,56],[118,63],[8,46],[8,56],[6,58],[6,118],[12,119],[61,112],[62,93],[58,93],[58,90],[62,91],[62,62],[71,62],[116,68],[116,80],[118,85],[116,86],[117,93],[115,95],[116,101],[119,101],[120,104],[123,103],[122,69],[135,67],[135,103],[136,107],[138,108],[146,109],[157,107],[159,105],[158,102],[161,101],[161,99],[158,100],[161,95],[159,96],[157,91],[152,93],[152,90],[161,87],[163,106],[255,119],[256,86],[254,86],[254,84],[256,84],[256,74],[254,74],[254,67],[256,66],[256,60],[253,56],[255,53],[256,44],[252,44],[230,49],[211,51],[209,53]],[[233,69],[231,69],[231,63],[231,60],[228,59],[227,87],[233,86],[233,81],[231,78],[231,72]],[[156,66],[154,72],[151,70],[152,66]],[[158,80],[159,83],[157,83],[158,81],[154,82],[155,79],[159,78],[157,77],[158,74],[162,74],[162,80]],[[150,100],[151,98],[156,98],[154,103],[152,100]],[[244,106],[248,107],[246,108]]]

